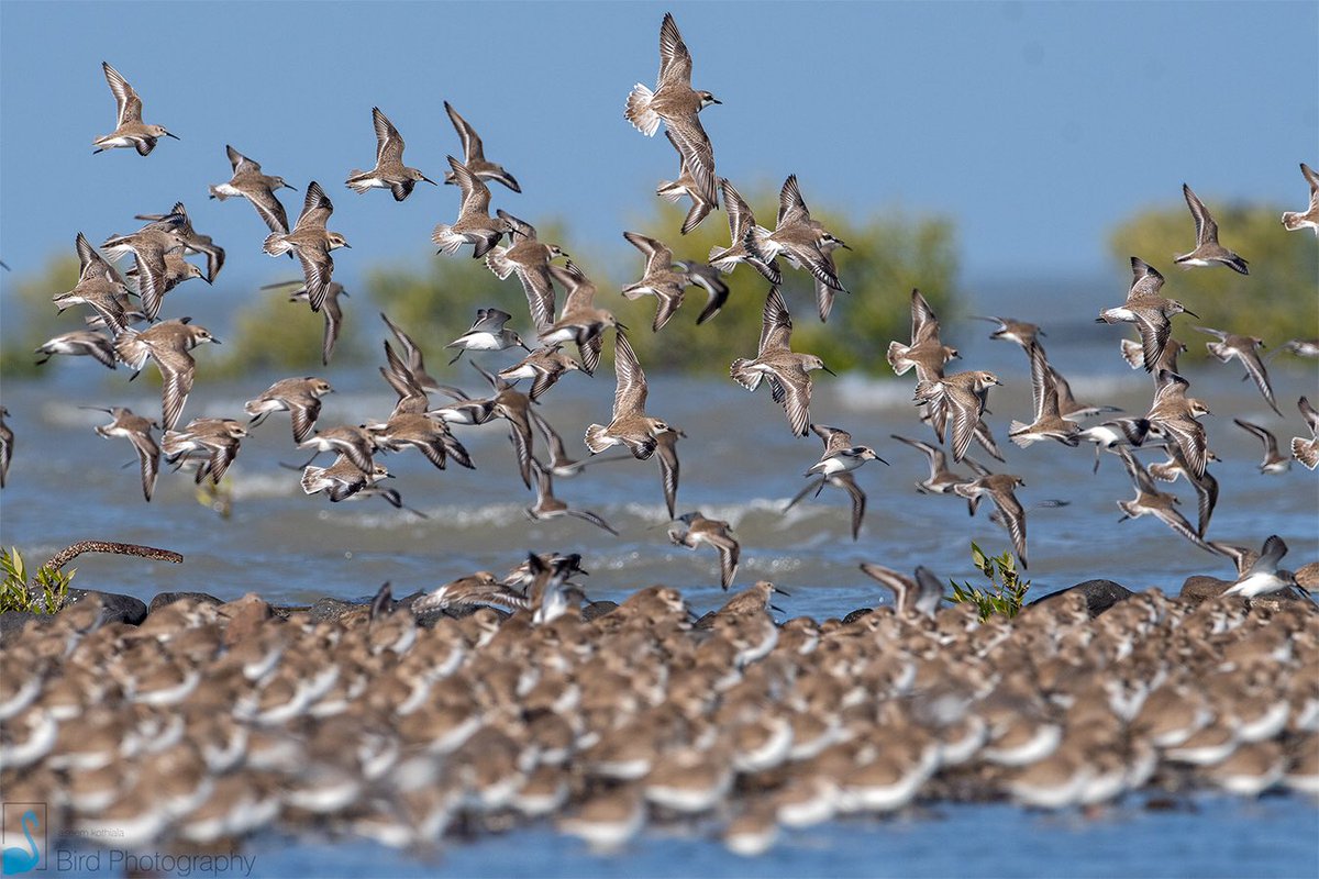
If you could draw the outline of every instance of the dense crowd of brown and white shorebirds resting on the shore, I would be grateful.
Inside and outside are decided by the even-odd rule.
[[[1319,609],[1228,585],[781,625],[764,584],[695,622],[663,586],[545,621],[71,589],[0,615],[0,785],[121,849],[545,818],[607,849],[704,817],[743,854],[930,801],[1319,796]]]

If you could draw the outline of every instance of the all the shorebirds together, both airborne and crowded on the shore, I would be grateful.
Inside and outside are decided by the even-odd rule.
[[[789,506],[826,486],[840,489],[852,501],[855,539],[865,511],[856,472],[882,459],[848,431],[811,419],[810,373],[827,368],[819,357],[793,351],[793,323],[778,286],[780,258],[810,273],[816,312],[827,320],[835,294],[844,290],[834,253],[847,245],[811,217],[795,175],[782,187],[774,228],[757,224],[736,188],[715,173],[699,113],[719,101],[691,87],[691,57],[669,14],[660,54],[656,87],[636,86],[625,116],[645,134],[665,125],[679,167],[658,195],[690,199],[681,231],[695,228],[721,202],[731,241],[707,261],[677,261],[666,244],[628,232],[646,262],[644,277],[621,293],[656,298],[653,331],[660,332],[691,286],[708,294],[698,320],[704,324],[729,294],[723,275],[739,264],[766,279],[756,353],[732,361],[731,377],[749,391],[768,385],[791,434],[814,432],[822,440],[823,452]],[[136,91],[109,65],[104,72],[119,115],[116,130],[96,138],[96,152],[133,146],[148,156],[157,140],[174,137],[144,124]],[[504,210],[491,215],[487,182],[513,192],[521,187],[485,158],[463,117],[447,103],[446,109],[462,138],[463,161],[448,158],[443,182],[458,186],[462,204],[456,220],[435,227],[433,241],[447,254],[470,244],[501,279],[516,274],[536,329],[533,347],[508,327],[513,315],[488,307],[447,345],[456,349],[454,361],[466,352],[525,351],[520,362],[497,373],[477,365],[488,394],[437,381],[417,341],[381,315],[392,339],[384,343],[380,372],[397,395],[388,416],[322,427],[321,406],[331,385],[293,377],[247,402],[248,423],[195,418],[181,426],[197,366],[190,352],[219,340],[187,318],[160,319],[164,300],[187,279],[214,281],[224,265],[224,249],[193,228],[182,203],[164,215],[141,215],[146,225],[109,239],[103,253],[78,235],[79,281],[55,304],[61,311],[90,307],[91,326],[51,339],[41,353],[88,354],[111,369],[117,362],[135,370],[148,361],[157,365],[164,378],[160,419],[109,407],[111,423],[96,428],[133,444],[146,501],[162,459],[191,467],[197,482],[218,485],[249,428],[288,411],[298,448],[335,455],[327,467],[302,467],[307,494],[324,493],[335,502],[377,494],[402,506],[397,490],[380,485],[389,472],[377,456],[414,448],[437,468],[450,461],[471,468],[454,431],[503,419],[518,476],[536,489],[529,515],[575,517],[616,532],[596,513],[554,496],[554,478],[607,459],[570,457],[538,411],[565,374],[596,370],[612,331],[613,407],[608,423],[586,427],[586,445],[592,456],[621,447],[624,457],[658,460],[670,539],[712,548],[728,589],[739,542],[727,522],[699,511],[677,514],[677,444],[686,435],[648,414],[646,376],[625,327],[596,304],[596,287],[580,266],[555,262],[567,257],[559,246],[539,241],[534,227]],[[376,166],[353,170],[350,188],[385,188],[401,202],[419,182],[438,184],[404,165],[402,138],[379,108],[372,120]],[[264,252],[301,262],[303,281],[293,298],[324,315],[322,358],[328,364],[343,320],[338,300],[347,295],[332,279],[331,254],[348,246],[327,228],[334,207],[311,182],[290,227],[276,195],[289,184],[232,146],[227,152],[233,175],[212,186],[211,195],[249,200],[269,227]],[[1310,207],[1283,215],[1283,225],[1319,232],[1319,177],[1306,165],[1302,171]],[[1219,244],[1204,204],[1188,187],[1183,194],[1196,246],[1177,262],[1246,274],[1246,261]],[[120,274],[115,264],[128,254],[135,266]],[[204,254],[204,270],[186,260],[191,254]],[[1154,515],[1198,547],[1232,557],[1240,576],[1229,593],[1257,597],[1304,585],[1278,567],[1286,546],[1277,536],[1260,552],[1206,539],[1217,497],[1208,468],[1215,457],[1196,420],[1207,407],[1187,394],[1188,382],[1177,369],[1184,345],[1171,335],[1171,319],[1190,312],[1162,297],[1165,279],[1157,269],[1133,257],[1132,270],[1125,302],[1099,320],[1136,324],[1140,341],[1124,341],[1122,354],[1154,378],[1149,411],[1086,426],[1113,410],[1074,398],[1049,362],[1037,326],[988,318],[997,324],[993,339],[1025,352],[1034,391],[1031,420],[1013,420],[1008,438],[1022,447],[1093,443],[1096,469],[1101,452],[1119,456],[1136,488],[1134,499],[1120,502],[1125,517]],[[1210,352],[1224,362],[1239,358],[1279,411],[1257,351],[1261,341],[1203,329],[1216,337]],[[565,351],[568,343],[576,358]],[[1312,340],[1283,348],[1319,354]],[[964,498],[972,513],[991,499],[1025,567],[1026,514],[1014,496],[1021,478],[991,472],[968,455],[977,444],[1002,460],[985,420],[988,394],[1001,382],[985,370],[946,373],[956,357],[940,339],[930,304],[913,290],[911,337],[893,341],[888,361],[898,376],[915,370],[915,401],[936,444],[894,439],[927,456],[922,492]],[[530,382],[526,391],[517,387],[522,381]],[[446,402],[434,402],[437,394]],[[1314,469],[1319,419],[1306,398],[1299,407],[1310,436],[1294,439],[1291,453]],[[1264,440],[1262,472],[1287,469],[1291,459],[1278,452],[1269,430],[1237,423]],[[164,431],[160,441],[157,428]],[[3,485],[13,449],[8,427],[0,440]],[[1142,464],[1134,449],[1154,445],[1167,460]],[[951,469],[950,455],[972,474]],[[1175,478],[1198,492],[1194,526],[1157,486]],[[1150,592],[1092,621],[1082,597],[1071,594],[1028,610],[1016,623],[981,622],[971,606],[939,610],[942,585],[923,568],[909,577],[868,564],[865,573],[894,592],[893,608],[780,626],[769,609],[782,590],[762,581],[692,623],[681,594],[663,586],[642,589],[621,605],[587,605],[571,582],[579,563],[572,555],[532,555],[504,579],[480,572],[397,602],[386,586],[369,611],[336,622],[306,611],[273,615],[251,598],[223,606],[182,600],[153,610],[141,627],[103,625],[91,598],[47,627],[30,626],[4,654],[0,764],[8,796],[26,792],[50,803],[61,824],[83,832],[117,829],[116,843],[124,846],[241,838],[280,816],[294,826],[344,829],[386,845],[429,845],[451,826],[563,816],[565,832],[611,847],[649,818],[715,814],[728,846],[754,854],[773,845],[781,826],[888,813],[918,796],[1093,807],[1153,778],[1242,795],[1279,783],[1319,791],[1319,676],[1310,673],[1319,640],[1306,602],[1281,602],[1269,615],[1233,601],[1194,609]],[[1216,681],[1212,689],[1204,684],[1210,680]]]

